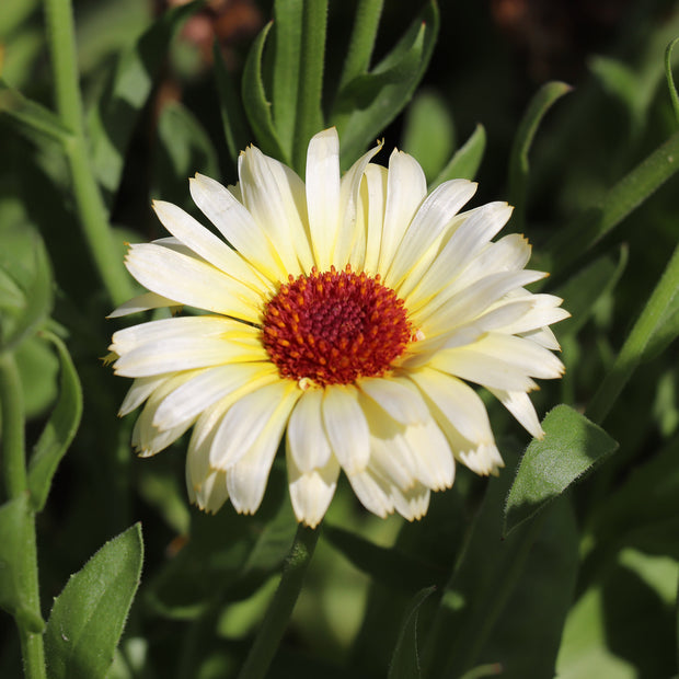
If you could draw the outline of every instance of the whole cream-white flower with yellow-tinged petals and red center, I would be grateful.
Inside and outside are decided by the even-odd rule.
[[[430,491],[452,485],[456,460],[496,474],[503,460],[485,387],[533,436],[543,435],[532,378],[563,366],[549,325],[561,299],[523,286],[518,234],[492,239],[506,203],[460,208],[476,185],[453,180],[429,196],[419,164],[376,148],[341,177],[335,129],[315,135],[306,184],[251,147],[228,188],[197,174],[191,194],[223,240],[170,203],[172,234],[130,245],[126,266],[149,292],[112,315],[192,307],[120,330],[117,375],[135,378],[120,407],[146,403],[133,434],[151,456],[193,426],[186,481],[217,511],[260,506],[285,436],[292,507],[323,518],[341,470],[370,511],[422,517]]]

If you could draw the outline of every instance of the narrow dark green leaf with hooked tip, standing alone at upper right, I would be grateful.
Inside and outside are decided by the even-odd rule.
[[[529,171],[528,152],[545,113],[571,90],[571,85],[565,82],[548,82],[543,84],[528,104],[528,108],[516,131],[509,157],[508,183],[509,203],[515,206],[514,223],[517,231],[523,230],[526,221]]]

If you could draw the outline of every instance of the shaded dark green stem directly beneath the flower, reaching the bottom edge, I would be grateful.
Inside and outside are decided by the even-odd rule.
[[[311,529],[300,526],[297,529],[295,542],[283,566],[280,584],[266,611],[260,633],[248,654],[239,679],[261,679],[266,676],[302,588],[320,532],[320,528]]]

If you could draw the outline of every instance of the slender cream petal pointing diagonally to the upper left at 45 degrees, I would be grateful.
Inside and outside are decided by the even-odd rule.
[[[226,186],[196,173],[189,180],[188,187],[200,211],[248,262],[269,280],[278,280],[281,274],[285,275],[269,234],[260,228],[245,206]]]

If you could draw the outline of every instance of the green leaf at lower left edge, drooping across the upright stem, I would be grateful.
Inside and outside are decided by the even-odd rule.
[[[0,507],[0,608],[22,619],[32,632],[45,628],[39,605],[31,606],[22,598],[22,580],[26,577],[25,541],[31,520],[25,493]]]

